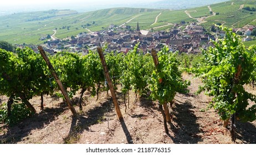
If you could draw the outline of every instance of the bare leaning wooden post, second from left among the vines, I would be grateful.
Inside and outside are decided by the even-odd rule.
[[[114,105],[115,105],[115,110],[116,110],[117,117],[118,117],[119,121],[123,121],[124,118],[122,117],[122,113],[121,113],[120,107],[118,105],[118,101],[116,99],[115,90],[114,90],[114,87],[112,85],[112,80],[110,79],[110,76],[109,76],[109,70],[107,69],[105,57],[104,57],[104,54],[103,54],[103,49],[99,46],[97,48],[97,50],[98,50],[98,53],[99,53],[99,56],[100,56],[101,64],[103,65],[104,74],[105,74],[105,77],[106,77],[106,80],[107,80],[107,84],[109,85],[112,100],[113,100]]]

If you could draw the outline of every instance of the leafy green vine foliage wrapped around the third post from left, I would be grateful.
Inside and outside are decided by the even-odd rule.
[[[158,100],[160,104],[171,102],[176,92],[187,92],[189,81],[183,81],[181,71],[178,69],[180,63],[176,54],[168,53],[168,48],[163,47],[157,53],[159,64],[153,70],[150,79],[151,97]]]

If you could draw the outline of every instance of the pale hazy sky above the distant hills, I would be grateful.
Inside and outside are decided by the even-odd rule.
[[[0,15],[24,11],[45,11],[48,9],[73,9],[80,12],[111,7],[131,7],[134,4],[151,3],[161,0],[2,0]]]

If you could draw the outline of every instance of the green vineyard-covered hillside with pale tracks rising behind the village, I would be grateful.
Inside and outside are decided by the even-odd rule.
[[[164,1],[163,1],[164,2]],[[227,27],[242,28],[256,24],[256,12],[244,7],[254,7],[256,1],[228,1],[197,7],[170,11],[168,9],[110,8],[99,11],[78,13],[70,10],[50,10],[30,13],[17,13],[0,16],[0,40],[17,44],[42,44],[47,34],[56,30],[57,38],[66,38],[81,32],[101,30],[110,24],[128,24],[141,29],[168,30],[181,21],[198,22],[206,29],[212,24],[222,23]]]

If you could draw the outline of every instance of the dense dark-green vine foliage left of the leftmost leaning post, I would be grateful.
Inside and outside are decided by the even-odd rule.
[[[21,97],[22,102],[34,111],[28,100],[52,92],[42,56],[29,48],[17,49],[15,54],[0,49],[0,60],[0,94]]]

